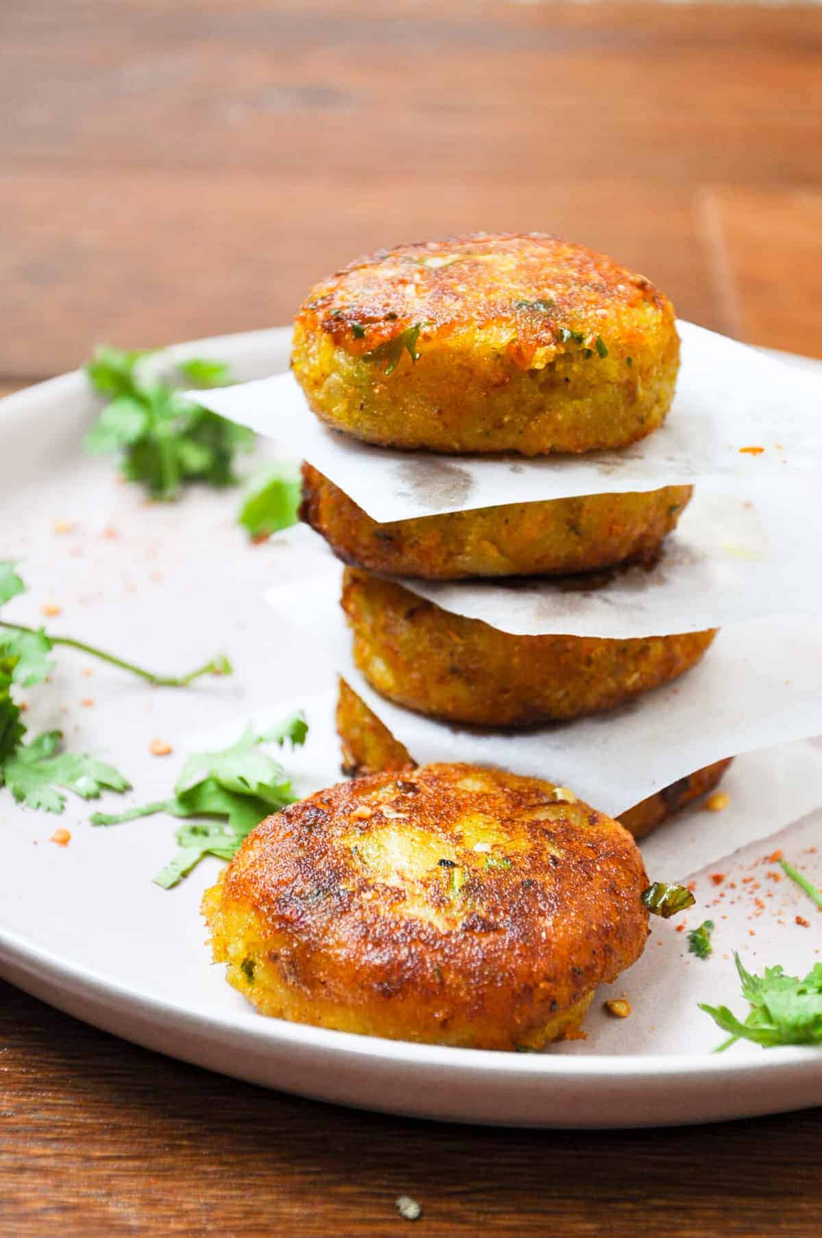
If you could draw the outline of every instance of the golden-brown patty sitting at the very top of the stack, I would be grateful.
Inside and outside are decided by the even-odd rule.
[[[381,250],[309,292],[292,368],[366,442],[524,456],[618,448],[662,423],[680,340],[641,275],[556,236]]]

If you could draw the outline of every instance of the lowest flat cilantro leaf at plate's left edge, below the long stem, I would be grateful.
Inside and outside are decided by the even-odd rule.
[[[129,780],[113,765],[82,753],[58,753],[61,739],[59,730],[47,730],[5,758],[2,779],[17,803],[62,812],[66,796],[58,787],[83,800],[95,800],[103,790],[130,790]]]

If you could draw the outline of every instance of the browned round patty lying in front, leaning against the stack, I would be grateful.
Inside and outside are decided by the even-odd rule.
[[[630,834],[566,789],[428,765],[269,817],[203,911],[215,961],[265,1014],[536,1049],[639,958],[646,884]]]

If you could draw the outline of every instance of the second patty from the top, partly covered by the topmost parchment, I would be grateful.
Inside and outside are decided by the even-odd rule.
[[[303,464],[300,516],[344,563],[371,572],[428,581],[555,576],[654,562],[691,494],[690,485],[668,485],[378,524]]]

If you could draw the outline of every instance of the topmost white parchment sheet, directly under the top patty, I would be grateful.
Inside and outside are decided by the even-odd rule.
[[[816,374],[678,326],[682,366],[668,418],[620,452],[526,459],[369,447],[321,425],[288,373],[196,397],[272,438],[288,457],[309,461],[379,521],[688,482],[749,496],[754,487],[822,467]],[[764,451],[750,456],[744,447]]]

